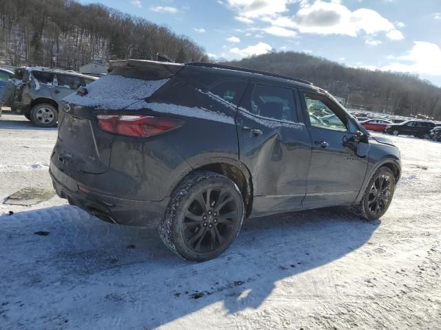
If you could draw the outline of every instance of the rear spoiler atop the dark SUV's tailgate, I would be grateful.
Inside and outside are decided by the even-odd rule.
[[[178,63],[146,60],[119,60],[109,61],[109,63],[109,72],[115,72],[131,78],[152,80],[170,78],[184,67],[184,65]]]

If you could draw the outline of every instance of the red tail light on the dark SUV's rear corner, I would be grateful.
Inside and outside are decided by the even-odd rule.
[[[103,131],[132,137],[154,136],[184,124],[183,120],[153,115],[98,115],[96,118]]]

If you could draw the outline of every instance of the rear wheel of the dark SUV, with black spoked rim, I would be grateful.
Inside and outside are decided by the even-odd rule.
[[[176,188],[158,228],[172,252],[188,261],[208,261],[234,241],[245,217],[243,197],[227,177],[197,171]]]

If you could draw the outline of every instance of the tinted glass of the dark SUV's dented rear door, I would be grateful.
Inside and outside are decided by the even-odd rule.
[[[255,85],[250,100],[244,104],[247,111],[266,118],[297,121],[296,104],[292,89]]]

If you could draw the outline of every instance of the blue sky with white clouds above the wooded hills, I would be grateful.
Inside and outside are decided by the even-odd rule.
[[[441,0],[81,0],[167,25],[213,58],[294,50],[441,86]]]

